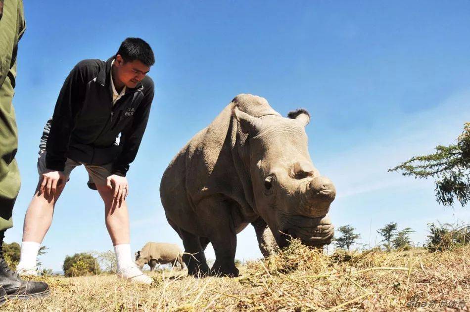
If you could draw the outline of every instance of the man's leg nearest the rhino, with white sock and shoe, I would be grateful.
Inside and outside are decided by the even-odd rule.
[[[150,284],[152,279],[135,265],[131,256],[129,213],[126,200],[114,200],[114,190],[107,185],[96,188],[104,202],[104,220],[116,253],[117,275],[143,284]]]

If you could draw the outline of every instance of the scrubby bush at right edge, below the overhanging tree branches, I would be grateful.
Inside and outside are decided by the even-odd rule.
[[[429,252],[450,250],[470,242],[470,224],[427,223]]]

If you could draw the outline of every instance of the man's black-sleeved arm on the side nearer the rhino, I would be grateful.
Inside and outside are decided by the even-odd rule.
[[[153,94],[154,90],[152,86],[152,89],[144,96],[141,105],[139,105],[139,108],[136,110],[132,124],[126,127],[121,134],[122,151],[114,162],[113,175],[125,177],[129,170],[129,164],[136,158],[143,133],[147,126]]]

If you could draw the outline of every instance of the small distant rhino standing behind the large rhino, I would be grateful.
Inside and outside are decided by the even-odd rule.
[[[180,264],[181,269],[186,268],[182,259],[183,252],[177,244],[148,242],[135,255],[136,265],[142,268],[145,264],[148,264],[151,271],[155,269],[157,264],[166,265],[171,263],[175,265],[177,262]]]

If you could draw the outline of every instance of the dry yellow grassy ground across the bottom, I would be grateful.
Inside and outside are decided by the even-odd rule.
[[[46,299],[8,301],[5,311],[470,311],[470,251],[335,253],[294,243],[238,278],[149,273],[142,286],[114,275],[43,277]],[[447,300],[445,304],[443,300]],[[453,305],[454,308],[439,306]],[[435,305],[434,301],[436,302]],[[458,308],[465,302],[465,307]],[[407,308],[423,304],[423,308]],[[431,306],[431,307],[429,307]]]

